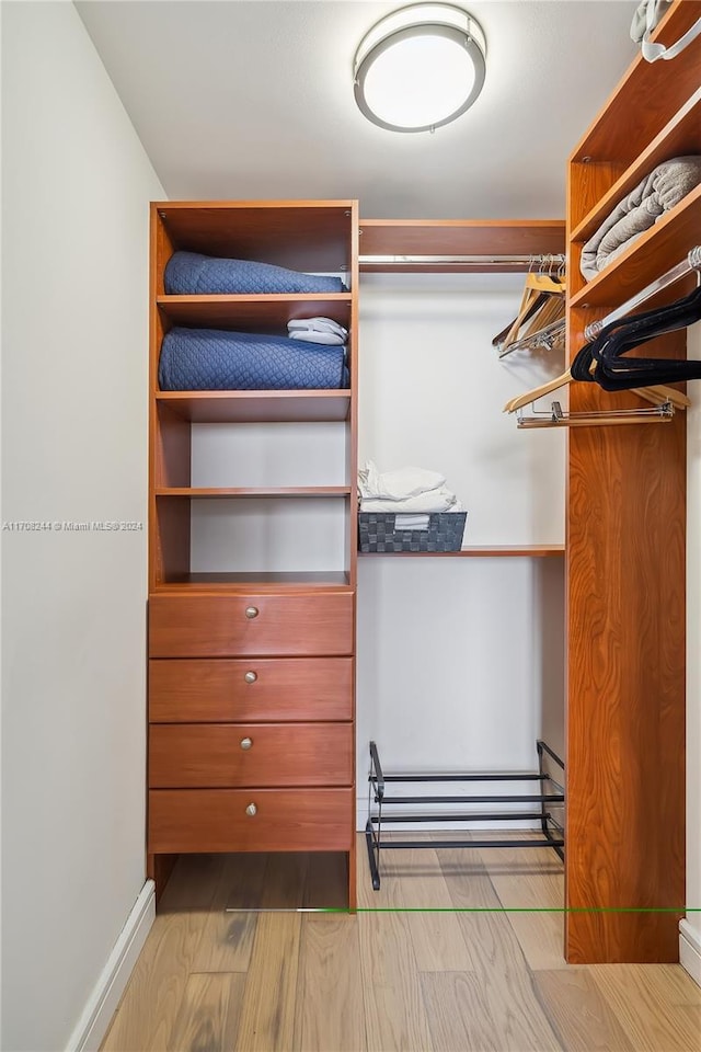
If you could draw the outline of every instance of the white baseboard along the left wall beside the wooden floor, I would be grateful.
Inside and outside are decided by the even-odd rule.
[[[67,1052],[100,1049],[154,918],[156,884],[147,880],[70,1037]]]

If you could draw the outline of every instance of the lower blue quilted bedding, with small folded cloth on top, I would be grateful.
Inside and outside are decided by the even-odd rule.
[[[162,391],[326,390],[348,387],[345,346],[220,329],[171,329]]]

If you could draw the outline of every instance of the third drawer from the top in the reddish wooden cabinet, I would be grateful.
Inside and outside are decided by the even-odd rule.
[[[156,723],[149,786],[349,786],[349,723]]]

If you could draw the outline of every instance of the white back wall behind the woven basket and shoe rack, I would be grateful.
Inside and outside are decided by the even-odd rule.
[[[498,359],[519,275],[383,275],[360,289],[359,460],[441,471],[463,545],[564,542],[564,431],[518,431],[513,396],[562,355]],[[562,396],[560,396],[562,397]],[[358,824],[368,741],[386,769],[531,768],[562,751],[563,560],[360,556]],[[436,787],[427,791],[436,792]]]

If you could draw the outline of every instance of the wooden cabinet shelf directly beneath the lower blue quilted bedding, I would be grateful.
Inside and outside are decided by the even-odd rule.
[[[193,423],[345,421],[350,391],[160,391],[156,404]]]

